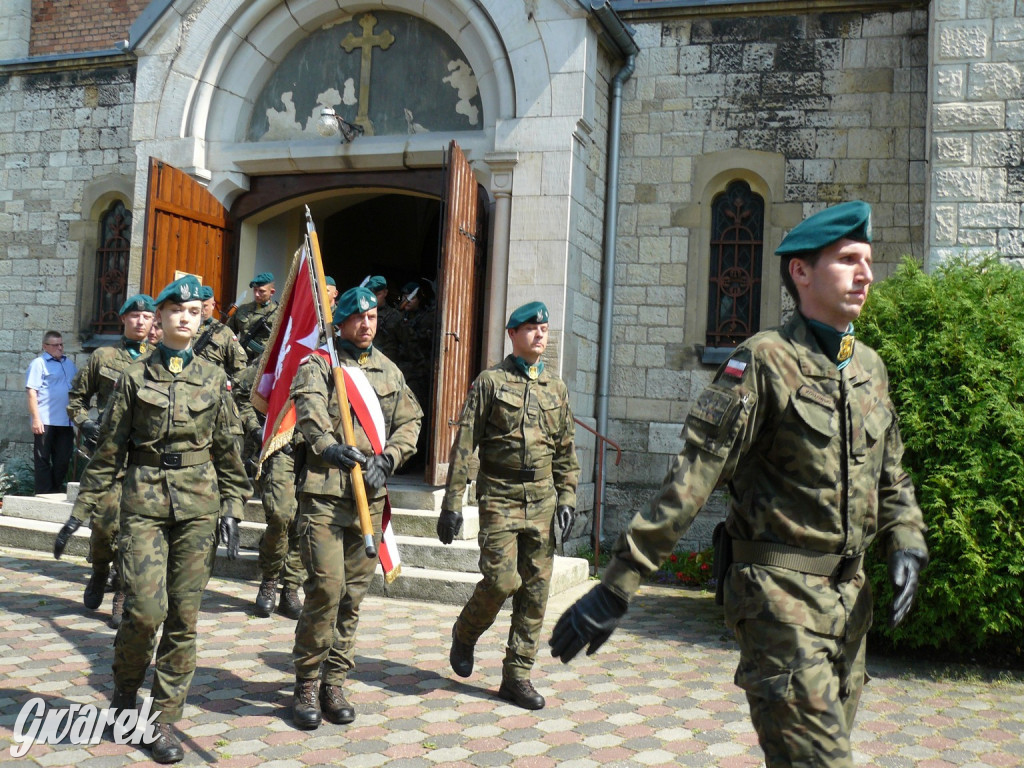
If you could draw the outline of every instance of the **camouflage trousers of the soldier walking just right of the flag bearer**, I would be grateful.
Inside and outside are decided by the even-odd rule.
[[[555,562],[555,497],[537,502],[482,498],[479,507],[483,579],[459,614],[456,637],[475,645],[512,596],[502,676],[526,679],[537,659]]]

